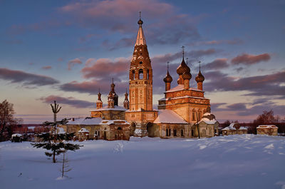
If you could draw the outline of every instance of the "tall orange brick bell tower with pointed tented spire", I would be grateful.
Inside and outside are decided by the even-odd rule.
[[[134,136],[147,136],[147,127],[157,118],[157,111],[152,110],[152,66],[142,24],[140,19],[130,62],[130,109],[125,112],[125,119],[133,127],[134,132],[131,131],[131,134],[134,133]]]

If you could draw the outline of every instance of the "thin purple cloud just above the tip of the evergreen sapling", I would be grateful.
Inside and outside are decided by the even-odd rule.
[[[51,96],[41,97],[39,98],[39,100],[43,101],[44,103],[53,103],[53,101],[56,101],[59,104],[66,104],[74,108],[92,108],[95,106],[94,102],[81,101],[73,97],[66,98],[66,97],[51,95]]]

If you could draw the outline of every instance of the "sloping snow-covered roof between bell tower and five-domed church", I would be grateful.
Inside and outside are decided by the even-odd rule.
[[[153,123],[187,123],[183,118],[171,110],[160,110],[158,116]]]

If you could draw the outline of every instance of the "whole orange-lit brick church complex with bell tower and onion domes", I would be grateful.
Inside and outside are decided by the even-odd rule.
[[[152,65],[142,24],[140,19],[133,58],[130,61],[130,101],[126,91],[123,107],[118,106],[115,83],[112,82],[108,94],[108,106],[103,107],[99,91],[96,109],[90,111],[90,118],[87,121],[87,118],[82,121],[92,124],[83,125],[80,121],[71,121],[63,128],[66,131],[76,132],[76,135],[82,134],[78,133],[83,131],[82,128],[89,128],[89,136],[105,140],[128,140],[130,136],[160,138],[215,136],[218,133],[219,123],[210,113],[209,99],[204,97],[204,76],[199,68],[195,81],[191,81],[192,74],[190,67],[185,63],[184,48],[182,62],[176,70],[179,76],[177,86],[171,88],[172,76],[167,66],[167,73],[163,79],[164,98],[158,101],[158,110],[152,108]],[[192,82],[197,83],[197,88],[190,88]]]

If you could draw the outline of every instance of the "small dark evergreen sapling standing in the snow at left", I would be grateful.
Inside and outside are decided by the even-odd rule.
[[[50,152],[45,152],[48,157],[53,156],[53,163],[56,163],[56,155],[66,152],[67,150],[78,150],[82,145],[66,143],[66,141],[71,141],[74,133],[57,133],[57,125],[65,125],[68,123],[68,119],[64,118],[61,121],[56,121],[56,113],[58,113],[61,108],[58,108],[58,104],[54,101],[54,106],[51,105],[53,110],[54,122],[46,121],[43,123],[44,126],[50,126],[53,131],[50,133],[38,134],[38,138],[41,138],[42,143],[32,143],[34,148],[43,148],[46,150],[51,150]]]

